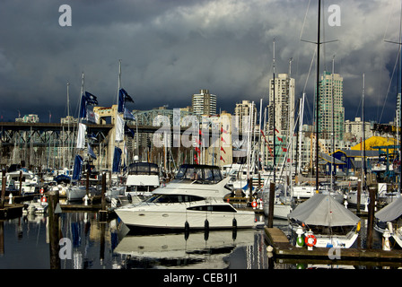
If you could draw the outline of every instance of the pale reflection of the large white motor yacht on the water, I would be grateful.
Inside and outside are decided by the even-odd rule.
[[[127,268],[228,268],[237,248],[252,248],[258,230],[214,230],[167,234],[128,234],[114,249]],[[247,253],[247,252],[246,252]]]

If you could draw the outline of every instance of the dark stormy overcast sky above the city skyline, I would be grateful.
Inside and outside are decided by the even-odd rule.
[[[59,25],[62,4],[72,25]],[[330,4],[340,7],[340,26],[328,25]],[[360,117],[365,74],[367,120],[395,115],[400,39],[400,1],[322,1],[321,72],[344,77],[345,119]],[[233,112],[240,100],[268,103],[273,74],[296,79],[312,110],[316,79],[318,0],[0,0],[0,113],[38,114],[41,122],[77,116],[81,75],[100,106],[116,103],[118,59],[129,109],[191,105],[209,89],[219,109]],[[311,60],[314,62],[311,65]],[[310,73],[309,73],[310,71]],[[392,74],[393,78],[392,78]],[[391,81],[392,80],[392,81]]]

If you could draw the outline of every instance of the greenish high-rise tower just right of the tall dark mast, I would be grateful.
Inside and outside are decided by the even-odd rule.
[[[319,138],[336,141],[344,138],[345,108],[344,79],[340,74],[327,71],[319,81]],[[316,107],[317,109],[317,107]]]

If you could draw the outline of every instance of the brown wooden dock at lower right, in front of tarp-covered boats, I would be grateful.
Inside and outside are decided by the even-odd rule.
[[[272,253],[278,258],[309,258],[309,259],[329,259],[330,248],[296,248],[286,237],[284,232],[276,227],[265,228],[267,245],[273,248]],[[353,260],[353,261],[393,261],[402,265],[402,250],[393,249],[384,251],[382,249],[363,249],[363,248],[342,248],[340,249],[340,258],[336,260]],[[332,260],[333,261],[333,260]]]

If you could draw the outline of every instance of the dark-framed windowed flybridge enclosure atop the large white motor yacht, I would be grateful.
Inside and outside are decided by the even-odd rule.
[[[221,181],[223,176],[218,167],[183,164],[173,180],[179,182],[185,179],[196,180],[196,183],[214,184]]]

